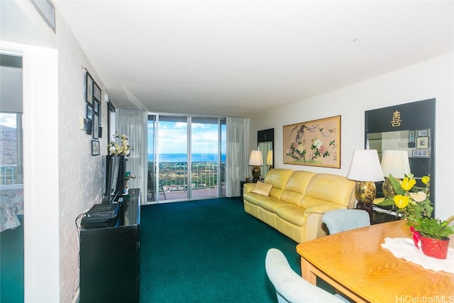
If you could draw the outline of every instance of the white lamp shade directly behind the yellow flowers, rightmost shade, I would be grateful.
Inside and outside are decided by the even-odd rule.
[[[403,179],[410,174],[409,153],[406,150],[384,150],[382,158],[384,177]]]

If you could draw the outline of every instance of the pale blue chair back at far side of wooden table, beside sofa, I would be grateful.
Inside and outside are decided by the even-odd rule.
[[[369,213],[362,209],[336,209],[323,214],[322,221],[330,235],[353,228],[370,226]]]

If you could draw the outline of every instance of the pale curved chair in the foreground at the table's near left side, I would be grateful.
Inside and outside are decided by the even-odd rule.
[[[276,289],[277,302],[349,302],[340,294],[330,294],[304,280],[290,267],[287,258],[277,248],[270,248],[265,258],[265,270]]]

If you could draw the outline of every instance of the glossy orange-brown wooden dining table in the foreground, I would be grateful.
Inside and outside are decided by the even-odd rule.
[[[395,257],[384,238],[412,233],[400,220],[300,243],[301,275],[313,285],[320,277],[354,302],[454,302],[452,273]]]

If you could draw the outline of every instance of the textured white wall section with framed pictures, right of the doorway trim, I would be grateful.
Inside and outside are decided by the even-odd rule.
[[[79,238],[74,219],[100,203],[104,191],[107,152],[106,88],[87,56],[57,11],[57,50],[59,62],[59,165],[60,165],[60,302],[71,302],[79,287]],[[84,67],[84,68],[82,68]],[[80,129],[85,116],[84,77],[87,69],[102,90],[101,155],[92,156],[92,136]]]

